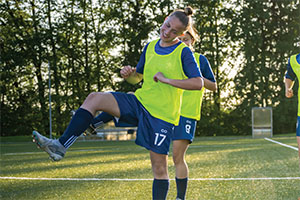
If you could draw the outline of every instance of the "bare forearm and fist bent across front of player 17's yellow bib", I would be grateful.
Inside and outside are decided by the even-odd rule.
[[[181,88],[184,90],[201,90],[204,86],[203,79],[201,77],[189,78],[184,80],[168,79],[161,72],[157,72],[153,77],[155,82],[162,82],[169,84],[173,87]]]

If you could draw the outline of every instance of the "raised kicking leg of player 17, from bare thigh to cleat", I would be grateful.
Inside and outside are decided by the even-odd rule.
[[[47,152],[52,160],[59,161],[64,157],[66,150],[88,128],[96,111],[106,111],[120,117],[118,103],[111,93],[93,92],[76,111],[64,134],[58,140],[48,139],[33,131],[34,142]]]

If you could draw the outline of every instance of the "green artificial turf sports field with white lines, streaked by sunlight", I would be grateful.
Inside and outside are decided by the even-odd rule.
[[[295,134],[271,138],[200,137],[190,146],[187,199],[297,200]],[[76,142],[60,162],[25,138],[1,141],[0,199],[151,199],[148,151],[133,141]],[[283,146],[285,144],[286,146]],[[169,157],[170,190],[176,198]]]

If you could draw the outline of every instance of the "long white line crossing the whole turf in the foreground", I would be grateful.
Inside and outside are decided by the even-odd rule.
[[[10,180],[37,180],[37,181],[153,181],[153,179],[128,178],[31,178],[31,177],[0,177]],[[170,179],[175,180],[175,179]],[[300,180],[300,177],[261,177],[261,178],[189,178],[190,181],[256,181],[256,180]]]

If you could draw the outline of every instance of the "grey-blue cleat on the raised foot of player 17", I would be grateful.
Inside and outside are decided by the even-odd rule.
[[[37,147],[49,154],[52,161],[60,161],[67,149],[58,141],[42,136],[37,131],[32,132],[33,141]]]

